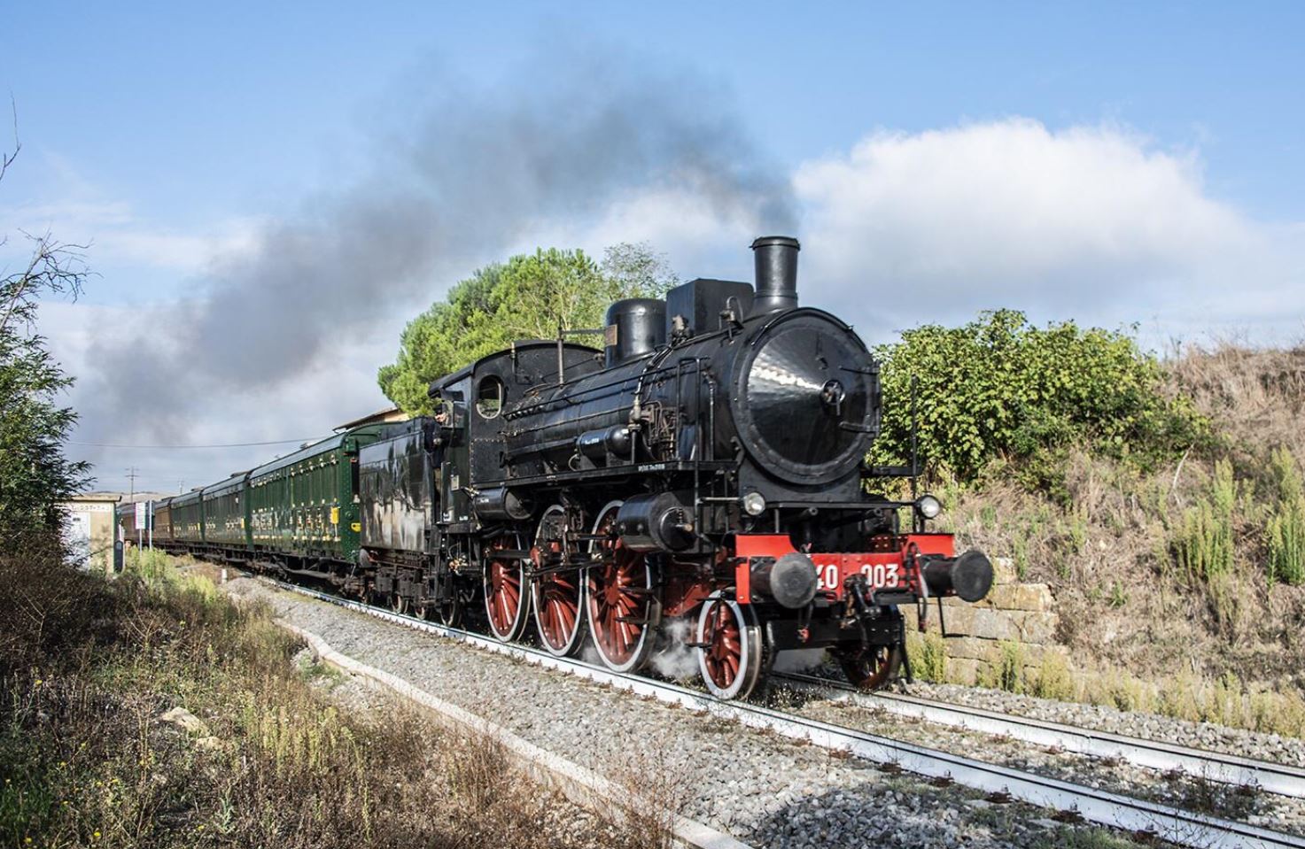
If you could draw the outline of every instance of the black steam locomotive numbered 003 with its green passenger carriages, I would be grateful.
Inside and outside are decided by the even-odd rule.
[[[916,471],[867,464],[878,365],[799,306],[797,240],[752,249],[756,286],[616,301],[602,351],[514,343],[435,381],[433,416],[181,496],[155,539],[500,640],[532,623],[547,651],[592,644],[619,672],[688,648],[724,699],[760,693],[787,649],[829,649],[867,689],[908,674],[900,608],[977,601],[992,565],[927,529],[934,497],[872,494]]]

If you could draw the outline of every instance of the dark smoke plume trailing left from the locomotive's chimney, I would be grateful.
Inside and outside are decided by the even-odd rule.
[[[549,44],[493,83],[414,77],[419,94],[392,100],[365,179],[219,261],[192,300],[149,316],[150,338],[97,339],[84,423],[184,439],[197,400],[274,389],[531,224],[583,220],[642,186],[692,189],[756,232],[793,231],[787,177],[728,97],[651,64]]]

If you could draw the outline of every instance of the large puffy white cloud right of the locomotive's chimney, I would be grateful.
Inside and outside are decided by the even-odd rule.
[[[805,279],[830,287],[820,296],[830,305],[885,296],[861,308],[878,323],[1019,306],[1195,329],[1274,323],[1283,296],[1297,314],[1305,306],[1287,290],[1305,256],[1292,228],[1211,198],[1195,154],[1117,127],[877,132],[793,180]]]

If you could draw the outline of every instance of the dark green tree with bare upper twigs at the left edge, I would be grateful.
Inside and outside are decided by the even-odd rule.
[[[14,156],[17,150],[0,154],[0,179]],[[59,505],[86,485],[89,469],[64,456],[77,415],[57,399],[73,381],[35,333],[39,299],[76,297],[85,266],[78,245],[48,235],[29,240],[21,270],[0,278],[0,553],[56,539]]]

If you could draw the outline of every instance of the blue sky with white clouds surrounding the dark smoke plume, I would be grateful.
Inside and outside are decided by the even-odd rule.
[[[94,365],[87,339],[103,326],[144,338],[132,313],[221,295],[213,262],[389,173],[414,116],[438,120],[424,112],[432,97],[466,85],[529,98],[532,64],[548,77],[551,57],[587,48],[632,74],[694,81],[688,113],[724,110],[795,186],[806,300],[851,312],[869,338],[1002,305],[1150,322],[1155,338],[1199,336],[1202,317],[1224,312],[1251,338],[1301,335],[1302,303],[1287,297],[1305,267],[1301,4],[48,3],[4,21],[0,87],[23,151],[0,185],[0,233],[93,240],[99,276],[42,327],[74,372]],[[553,107],[565,123],[566,103]],[[681,275],[746,273],[740,243],[756,224],[683,214],[681,196],[634,197],[647,185],[574,219],[549,213],[510,244],[647,239]],[[402,322],[468,262],[432,269],[369,320],[346,357],[347,391],[315,355],[292,389],[172,411],[187,423],[177,441],[305,436],[378,406],[371,376]],[[1242,274],[1259,291],[1220,301]],[[859,280],[934,297],[872,309]],[[150,393],[91,385],[141,403]],[[103,412],[91,400],[73,395]],[[84,437],[158,441],[108,413]],[[174,466],[198,483],[247,459],[258,456]]]

